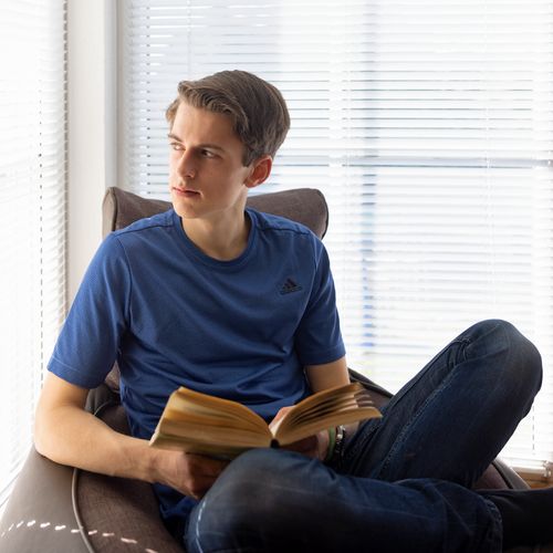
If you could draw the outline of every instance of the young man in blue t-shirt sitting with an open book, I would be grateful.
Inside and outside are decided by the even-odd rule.
[[[180,83],[167,118],[174,208],[112,233],[94,257],[49,364],[38,450],[155,483],[188,551],[483,552],[552,538],[551,494],[468,489],[540,387],[538,352],[501,321],[461,334],[383,419],[337,429],[336,451],[326,431],[230,465],[148,447],[180,385],[271,420],[348,382],[324,247],[246,209],[289,128],[281,94],[221,72]],[[288,279],[294,292],[282,294]],[[132,437],[83,409],[115,359]]]

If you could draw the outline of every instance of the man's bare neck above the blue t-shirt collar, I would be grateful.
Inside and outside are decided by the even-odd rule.
[[[248,246],[251,222],[243,210],[229,220],[182,218],[181,221],[188,239],[206,255],[218,261],[238,258]]]

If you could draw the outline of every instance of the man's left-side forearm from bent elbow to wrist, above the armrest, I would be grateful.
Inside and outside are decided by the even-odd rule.
[[[63,405],[36,414],[34,442],[49,459],[108,476],[155,481],[156,450],[112,430],[83,409]]]

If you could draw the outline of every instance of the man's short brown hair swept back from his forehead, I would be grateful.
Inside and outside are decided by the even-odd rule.
[[[221,71],[198,81],[181,81],[165,116],[173,126],[180,102],[227,114],[244,145],[242,163],[274,157],[290,128],[286,103],[279,90],[246,71]]]

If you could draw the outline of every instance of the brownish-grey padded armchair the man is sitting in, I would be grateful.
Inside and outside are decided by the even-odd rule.
[[[317,190],[265,194],[253,196],[248,202],[261,211],[300,221],[320,237],[326,231],[327,206]],[[165,211],[169,206],[166,201],[109,188],[103,207],[104,234]],[[351,378],[362,382],[377,405],[390,397],[354,371]],[[91,390],[86,408],[111,427],[128,434],[118,398],[117,367],[105,384]],[[526,488],[526,484],[513,470],[495,460],[477,487]],[[165,529],[148,483],[61,466],[32,449],[0,521],[0,551],[181,553],[184,550]]]

